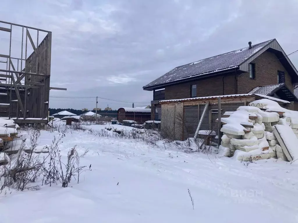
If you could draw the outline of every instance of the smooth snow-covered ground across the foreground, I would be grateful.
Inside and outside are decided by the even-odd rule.
[[[40,145],[58,135],[41,131]],[[63,159],[75,145],[79,153],[89,148],[81,164],[92,170],[68,188],[3,192],[0,222],[298,222],[298,161],[241,163],[88,130],[65,135]]]

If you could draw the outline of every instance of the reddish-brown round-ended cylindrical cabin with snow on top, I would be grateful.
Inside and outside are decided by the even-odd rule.
[[[134,120],[136,123],[143,124],[151,119],[151,109],[144,108],[119,108],[117,111],[117,120],[122,123],[123,120]]]

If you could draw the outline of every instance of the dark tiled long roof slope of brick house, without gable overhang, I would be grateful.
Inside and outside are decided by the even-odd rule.
[[[152,81],[151,83],[145,85],[143,88],[149,88],[156,85],[193,78],[205,74],[232,70],[236,67],[239,67],[240,64],[242,64],[244,61],[249,59],[252,55],[257,53],[259,50],[261,50],[274,40],[275,39],[268,40],[263,43],[258,43],[256,45],[253,45],[251,49],[249,49],[249,47],[245,47],[239,50],[220,54],[218,56],[212,56],[206,59],[176,67],[163,76]]]

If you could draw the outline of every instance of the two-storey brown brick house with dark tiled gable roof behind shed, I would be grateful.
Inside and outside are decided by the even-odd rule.
[[[298,71],[273,39],[176,67],[143,89],[153,91],[151,119],[160,120],[161,100],[213,95],[263,94],[290,101],[294,109],[295,83]]]

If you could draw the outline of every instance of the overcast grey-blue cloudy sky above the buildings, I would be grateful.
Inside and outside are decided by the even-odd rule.
[[[51,87],[67,91],[51,96],[149,104],[153,92],[142,87],[176,66],[249,41],[276,38],[287,54],[298,50],[297,11],[297,0],[11,0],[1,2],[0,20],[52,31]],[[290,59],[298,68],[298,54]],[[50,107],[93,109],[95,100],[50,98]]]

